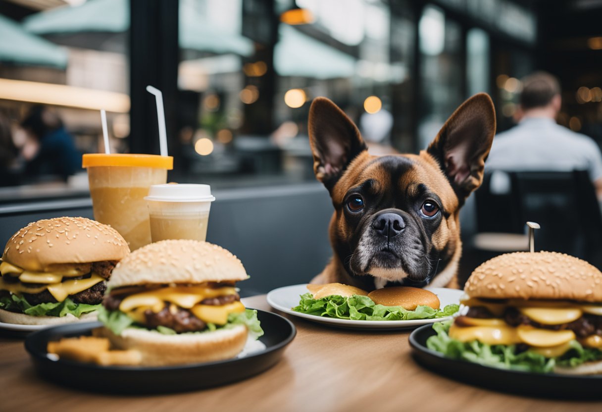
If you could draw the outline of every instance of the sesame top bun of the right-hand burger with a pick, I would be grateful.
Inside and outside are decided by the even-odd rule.
[[[464,292],[471,298],[602,301],[602,272],[556,252],[499,255],[474,269]]]

